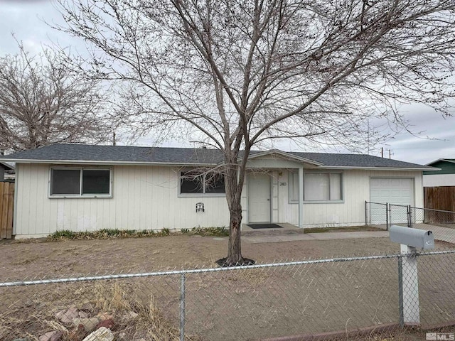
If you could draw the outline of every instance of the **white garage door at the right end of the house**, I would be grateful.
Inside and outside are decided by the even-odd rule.
[[[395,205],[414,206],[414,179],[412,178],[371,178],[370,201],[388,202]],[[407,222],[406,208],[392,210],[392,223]],[[370,220],[372,224],[385,224],[385,207],[371,205]]]

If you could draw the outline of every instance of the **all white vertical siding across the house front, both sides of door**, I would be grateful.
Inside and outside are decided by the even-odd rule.
[[[182,229],[228,226],[225,197],[178,197],[178,170],[157,166],[113,166],[112,198],[48,197],[50,165],[18,163],[16,236],[40,237],[60,229]],[[289,204],[287,170],[272,173],[272,222],[298,224],[299,205]],[[343,202],[304,203],[304,227],[365,224],[370,178],[414,178],[414,205],[423,207],[420,171],[343,171]],[[242,191],[247,223],[247,182]],[[205,212],[196,212],[203,202]]]

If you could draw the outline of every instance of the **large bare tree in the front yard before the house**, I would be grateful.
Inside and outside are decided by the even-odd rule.
[[[242,263],[247,158],[272,139],[355,146],[404,103],[445,110],[453,0],[58,0],[92,46],[74,61],[121,80],[124,112],[223,151],[228,264]],[[82,67],[81,67],[82,65]],[[445,112],[448,114],[448,112]],[[194,138],[193,138],[194,139]],[[371,142],[371,136],[369,137]]]

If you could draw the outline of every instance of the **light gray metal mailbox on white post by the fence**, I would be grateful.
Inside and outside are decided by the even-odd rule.
[[[424,229],[392,225],[390,227],[390,242],[404,244],[416,249],[434,249],[433,232]]]

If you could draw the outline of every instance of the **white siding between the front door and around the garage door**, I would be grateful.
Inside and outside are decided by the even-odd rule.
[[[279,178],[287,182],[287,172]],[[343,171],[343,202],[304,203],[304,227],[335,227],[365,224],[365,200],[370,200],[370,178],[414,178],[414,204],[423,207],[422,172],[420,171]],[[299,223],[299,205],[289,204],[288,186],[280,186],[280,214],[277,222]]]

